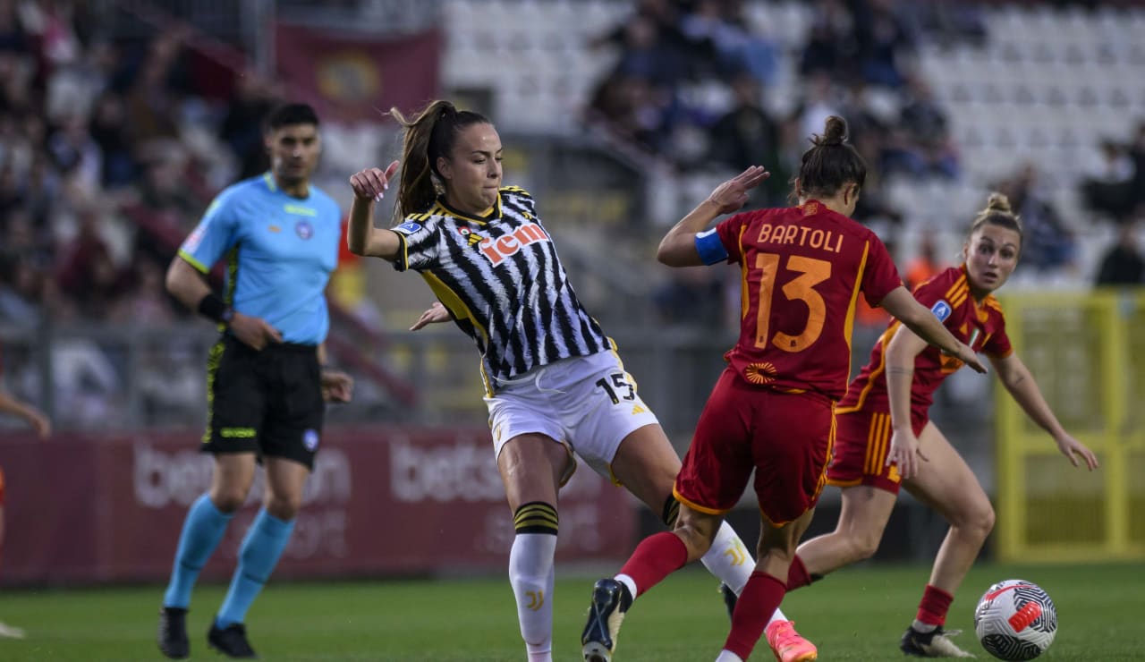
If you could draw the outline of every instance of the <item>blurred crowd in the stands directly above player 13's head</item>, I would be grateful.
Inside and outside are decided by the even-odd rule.
[[[787,174],[806,137],[828,115],[842,115],[882,176],[957,178],[946,113],[910,69],[923,31],[984,38],[973,9],[945,5],[816,0],[806,41],[791,50],[781,36],[753,31],[744,2],[641,0],[598,44],[621,55],[590,117],[682,170],[763,161]],[[797,98],[777,117],[765,96],[785,57],[797,62]],[[787,178],[773,181],[782,191]]]

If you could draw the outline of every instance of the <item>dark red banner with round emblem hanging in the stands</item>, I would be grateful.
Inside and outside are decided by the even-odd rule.
[[[440,94],[441,50],[437,31],[381,39],[275,27],[278,73],[290,97],[310,103],[323,119],[377,121],[392,107],[421,108]]]

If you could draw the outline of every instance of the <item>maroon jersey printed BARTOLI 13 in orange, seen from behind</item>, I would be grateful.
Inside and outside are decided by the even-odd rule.
[[[735,214],[697,236],[701,258],[740,265],[740,340],[725,358],[749,384],[847,391],[851,331],[862,292],[878,306],[902,285],[883,242],[818,200]]]

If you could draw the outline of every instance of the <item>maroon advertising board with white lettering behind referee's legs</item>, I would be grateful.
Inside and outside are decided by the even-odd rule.
[[[0,439],[0,584],[165,580],[187,507],[211,484],[198,446],[191,432]],[[205,577],[234,569],[261,475]],[[626,557],[627,499],[581,465],[561,490],[558,561]],[[488,429],[332,428],[276,576],[500,570],[512,541]]]

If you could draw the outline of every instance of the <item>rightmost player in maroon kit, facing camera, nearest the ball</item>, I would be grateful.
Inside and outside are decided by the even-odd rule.
[[[1010,395],[1074,466],[1081,459],[1092,471],[1097,458],[1050,411],[1013,353],[993,297],[1020,253],[1020,220],[1005,196],[992,194],[970,226],[963,263],[919,284],[915,297],[955,337],[989,357]],[[903,653],[919,657],[971,656],[950,640],[956,632],[943,631],[942,624],[954,592],[994,527],[989,497],[927,411],[934,391],[961,367],[957,358],[942,356],[909,329],[891,323],[836,409],[835,458],[827,478],[843,488],[839,522],[834,533],[799,545],[788,576],[790,590],[874,554],[899,489],[906,487],[950,523],[918,614],[900,644]]]

